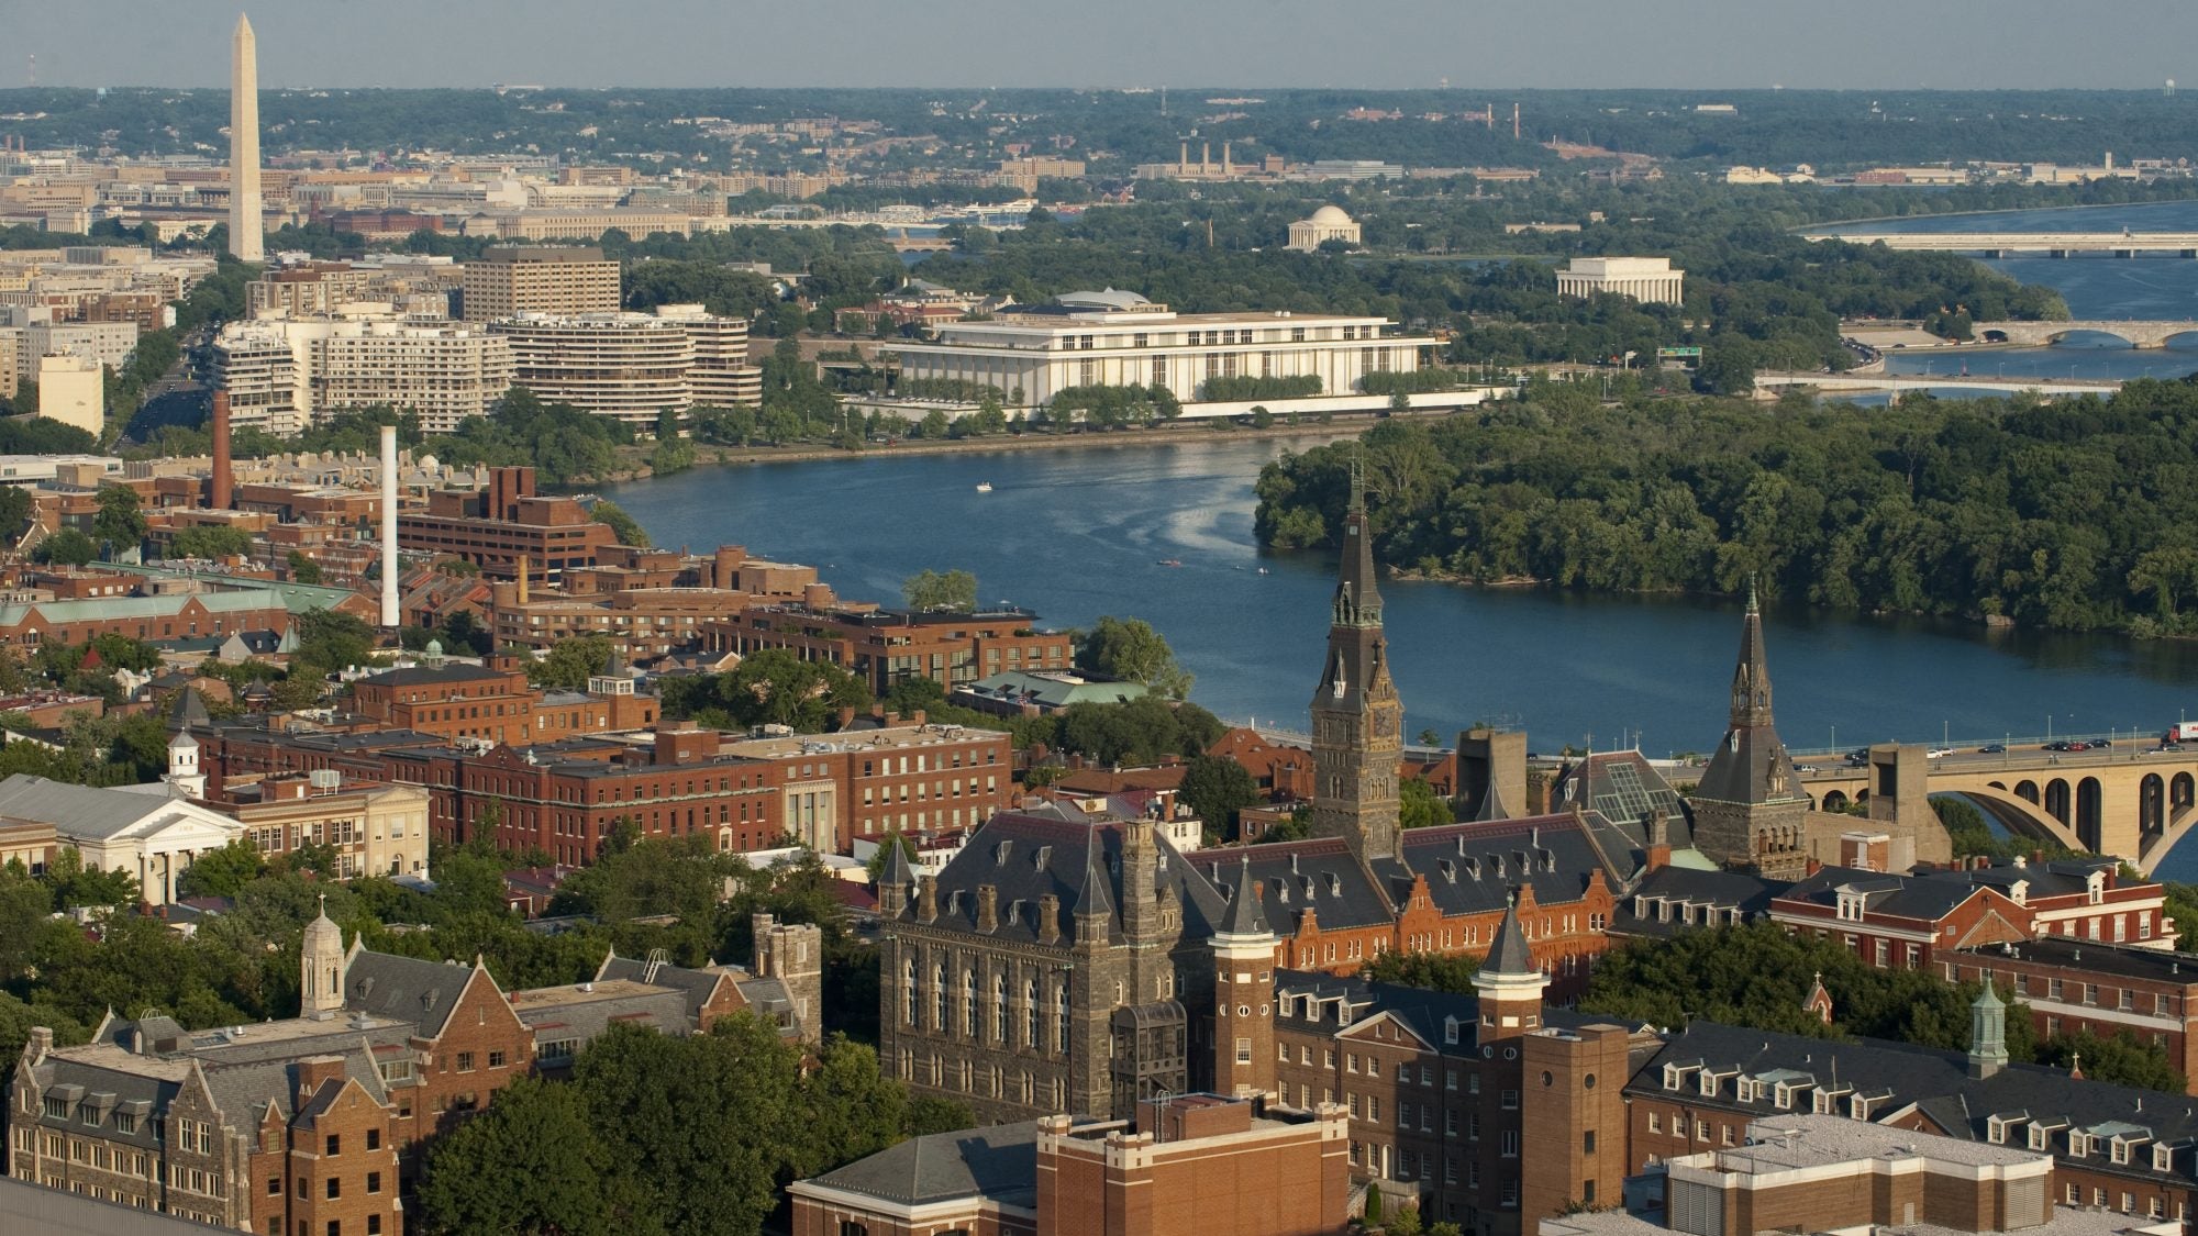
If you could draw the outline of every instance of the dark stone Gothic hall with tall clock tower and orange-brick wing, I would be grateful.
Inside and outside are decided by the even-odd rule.
[[[936,878],[895,856],[886,1067],[985,1119],[1268,1093],[1277,965],[1484,954],[1506,913],[1523,963],[1576,992],[1631,871],[1618,834],[1594,812],[1402,829],[1402,724],[1354,486],[1312,697],[1314,836],[1185,858],[1147,820],[1046,807],[993,816]]]

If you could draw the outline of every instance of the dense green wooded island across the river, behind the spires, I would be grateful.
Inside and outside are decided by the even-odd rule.
[[[1352,449],[1262,471],[1264,543],[1334,543]],[[1363,449],[1374,545],[1402,570],[2198,631],[2198,378],[1866,413],[1539,385]]]

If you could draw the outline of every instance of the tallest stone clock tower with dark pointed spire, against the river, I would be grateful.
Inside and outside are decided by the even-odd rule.
[[[1352,506],[1328,618],[1328,658],[1312,691],[1312,836],[1339,836],[1361,862],[1398,858],[1398,768],[1405,702],[1389,677],[1389,640],[1374,581],[1365,477],[1352,455]]]

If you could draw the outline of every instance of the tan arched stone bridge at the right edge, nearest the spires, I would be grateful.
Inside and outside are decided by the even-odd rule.
[[[2143,754],[2016,750],[1928,761],[1928,794],[1963,794],[2013,834],[2121,858],[2152,875],[2198,825],[2198,750]],[[1805,772],[1820,809],[1862,803],[1870,768]]]

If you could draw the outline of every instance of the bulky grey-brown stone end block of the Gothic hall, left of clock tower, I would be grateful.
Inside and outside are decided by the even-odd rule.
[[[1152,820],[993,816],[939,875],[879,880],[881,1060],[980,1119],[1128,1117],[1211,1042],[1224,904]]]

